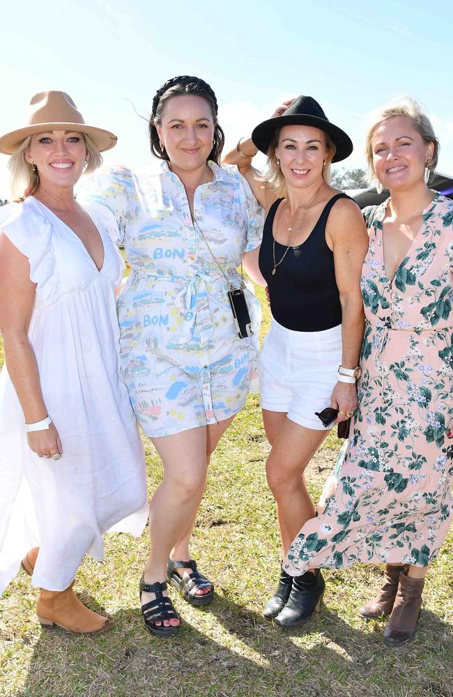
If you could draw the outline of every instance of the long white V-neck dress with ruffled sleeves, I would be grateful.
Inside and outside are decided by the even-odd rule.
[[[105,208],[87,210],[104,244],[100,271],[77,235],[33,197],[1,210],[0,230],[27,256],[36,283],[29,340],[63,456],[39,458],[30,450],[4,366],[0,594],[31,547],[40,546],[33,585],[64,590],[86,553],[102,559],[103,533],[115,526],[140,535],[146,521],[144,451],[119,374],[118,231]]]

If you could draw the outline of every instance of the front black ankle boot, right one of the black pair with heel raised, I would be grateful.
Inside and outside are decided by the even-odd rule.
[[[305,572],[302,576],[293,578],[293,587],[289,599],[275,624],[284,629],[300,627],[314,612],[319,612],[323,599],[325,583],[319,569],[316,572]]]

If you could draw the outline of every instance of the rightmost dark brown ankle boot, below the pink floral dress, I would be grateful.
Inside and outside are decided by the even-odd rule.
[[[423,586],[424,579],[410,579],[400,574],[397,597],[384,629],[387,646],[401,646],[414,636],[422,606]]]

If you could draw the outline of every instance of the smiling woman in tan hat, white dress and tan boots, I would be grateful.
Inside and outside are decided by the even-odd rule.
[[[119,376],[115,289],[123,261],[105,208],[82,208],[73,186],[114,146],[63,92],[31,99],[29,123],[0,137],[12,184],[2,208],[0,328],[0,593],[22,565],[40,588],[38,618],[91,634],[112,620],[72,591],[102,535],[139,535],[146,520],[144,452]]]

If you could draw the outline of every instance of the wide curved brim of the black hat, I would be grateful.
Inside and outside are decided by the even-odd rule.
[[[314,126],[314,128],[319,128],[319,130],[324,131],[330,135],[333,143],[335,144],[336,152],[332,158],[332,162],[341,162],[341,160],[346,160],[346,158],[351,155],[353,151],[353,141],[351,138],[338,128],[330,121],[325,121],[323,118],[318,116],[305,116],[304,114],[288,114],[285,116],[274,116],[272,118],[266,119],[263,123],[254,128],[252,132],[252,141],[259,150],[265,155],[268,154],[268,149],[270,146],[270,141],[275,134],[277,128],[282,128],[286,125],[302,125],[302,126]]]

